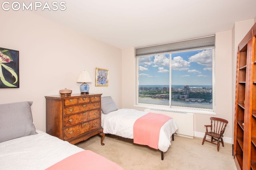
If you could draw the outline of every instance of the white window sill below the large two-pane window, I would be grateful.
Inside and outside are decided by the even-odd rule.
[[[144,107],[146,109],[156,109],[160,111],[174,111],[174,112],[185,112],[185,113],[198,113],[206,115],[216,115],[215,111],[197,110],[197,109],[183,109],[183,108],[171,108],[166,106],[150,106],[150,105],[134,105],[134,107]]]

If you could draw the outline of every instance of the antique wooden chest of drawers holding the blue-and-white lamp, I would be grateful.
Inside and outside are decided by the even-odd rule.
[[[101,127],[101,95],[45,96],[46,133],[72,144],[100,134],[101,145],[104,145],[105,134]]]

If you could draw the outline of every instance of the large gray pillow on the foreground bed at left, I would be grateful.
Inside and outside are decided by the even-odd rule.
[[[37,134],[30,108],[32,103],[0,104],[0,142]]]

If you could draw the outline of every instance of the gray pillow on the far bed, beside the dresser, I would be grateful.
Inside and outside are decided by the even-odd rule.
[[[108,114],[111,111],[116,111],[118,107],[116,106],[116,103],[112,99],[111,96],[106,96],[101,98],[101,110],[102,113]]]

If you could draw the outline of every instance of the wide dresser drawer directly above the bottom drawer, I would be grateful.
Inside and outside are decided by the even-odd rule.
[[[72,125],[76,125],[96,118],[100,118],[100,109],[64,116],[63,125],[64,127],[70,127]]]

